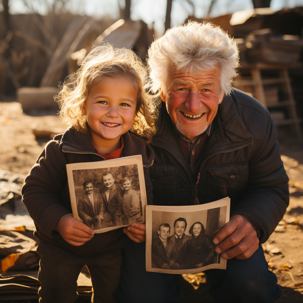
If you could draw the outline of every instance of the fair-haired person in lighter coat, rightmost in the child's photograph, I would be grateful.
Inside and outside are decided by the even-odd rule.
[[[140,207],[140,197],[135,190],[132,189],[132,178],[125,177],[122,179],[122,200],[125,224],[142,222],[142,214]]]

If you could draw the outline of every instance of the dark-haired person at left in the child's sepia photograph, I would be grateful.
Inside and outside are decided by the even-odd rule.
[[[85,193],[78,199],[78,215],[90,228],[100,229],[104,214],[102,198],[94,192],[94,185],[90,180],[83,182],[83,189]]]

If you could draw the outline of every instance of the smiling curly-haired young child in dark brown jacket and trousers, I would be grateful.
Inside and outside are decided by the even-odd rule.
[[[145,241],[144,225],[94,234],[73,218],[65,166],[142,155],[151,203],[149,167],[154,153],[139,136],[151,140],[157,104],[144,90],[145,79],[145,68],[134,52],[104,44],[92,49],[72,84],[64,85],[58,96],[61,118],[69,128],[46,144],[22,187],[23,203],[40,240],[40,303],[74,302],[83,265],[90,271],[94,302],[115,302],[126,235]]]

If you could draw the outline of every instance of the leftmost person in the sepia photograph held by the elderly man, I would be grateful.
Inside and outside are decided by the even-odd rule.
[[[153,268],[179,269],[175,244],[169,240],[170,225],[162,223],[159,226],[158,235],[151,245],[151,260]]]

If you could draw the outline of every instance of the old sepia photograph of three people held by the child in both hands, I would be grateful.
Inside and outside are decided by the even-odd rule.
[[[145,222],[141,155],[66,168],[73,215],[95,233]]]

